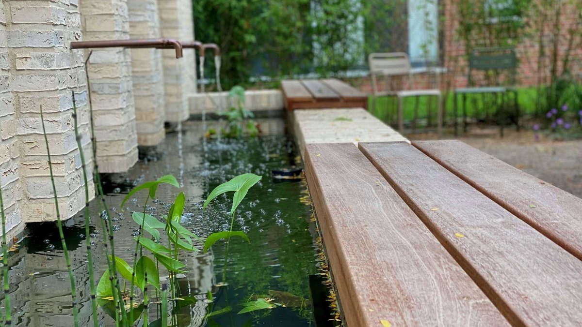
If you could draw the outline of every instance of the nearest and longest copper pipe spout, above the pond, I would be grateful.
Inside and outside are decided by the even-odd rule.
[[[114,39],[108,41],[71,42],[71,49],[88,48],[157,48],[175,49],[176,58],[182,58],[182,44],[173,38]]]

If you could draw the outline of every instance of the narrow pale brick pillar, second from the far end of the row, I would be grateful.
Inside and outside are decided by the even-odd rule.
[[[156,0],[128,0],[131,38],[159,38]],[[164,76],[159,49],[132,49],[137,143],[158,145],[165,138]]]

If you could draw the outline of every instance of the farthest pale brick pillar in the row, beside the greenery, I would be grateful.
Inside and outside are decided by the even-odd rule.
[[[162,37],[187,42],[194,39],[194,20],[190,0],[157,0]],[[188,98],[196,93],[194,49],[184,49],[182,59],[164,50],[166,120],[183,121],[189,114]]]

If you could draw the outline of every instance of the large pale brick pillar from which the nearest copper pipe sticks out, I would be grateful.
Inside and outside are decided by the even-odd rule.
[[[56,220],[40,121],[42,106],[59,209],[63,219],[70,218],[85,204],[81,161],[73,130],[73,90],[77,93],[80,132],[83,135],[81,142],[89,168],[92,160],[83,56],[80,51],[70,51],[68,48],[71,41],[80,38],[77,5],[69,1],[51,0],[5,0],[2,3],[8,32],[5,42],[8,47],[10,87],[9,90],[2,88],[0,116],[8,121],[2,125],[2,145],[9,145],[8,163],[11,165],[9,170],[3,172],[2,184],[5,187],[8,185],[9,195],[11,188],[18,188],[14,181],[19,177],[23,197],[20,208],[24,222]],[[2,54],[5,55],[6,51]],[[6,61],[2,60],[3,73],[6,73],[5,69]],[[5,82],[6,78],[3,79],[4,86]],[[15,135],[18,152],[14,149]],[[89,174],[91,177],[91,170]],[[89,186],[93,195],[92,181]],[[18,194],[13,193],[12,199],[8,196],[8,204],[18,199]]]

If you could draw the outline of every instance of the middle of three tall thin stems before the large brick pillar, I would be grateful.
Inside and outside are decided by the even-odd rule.
[[[91,310],[93,311],[93,325],[98,326],[97,321],[97,292],[95,292],[95,278],[93,276],[93,254],[91,254],[91,218],[89,217],[89,186],[87,180],[87,170],[85,168],[85,154],[83,152],[83,146],[81,145],[81,136],[79,135],[79,117],[77,116],[77,102],[74,99],[74,91],[71,92],[73,95],[73,120],[74,120],[74,135],[77,139],[77,148],[79,148],[79,155],[81,157],[81,169],[83,170],[83,182],[85,184],[85,243],[87,245],[87,261],[89,266],[89,284],[91,289]]]

